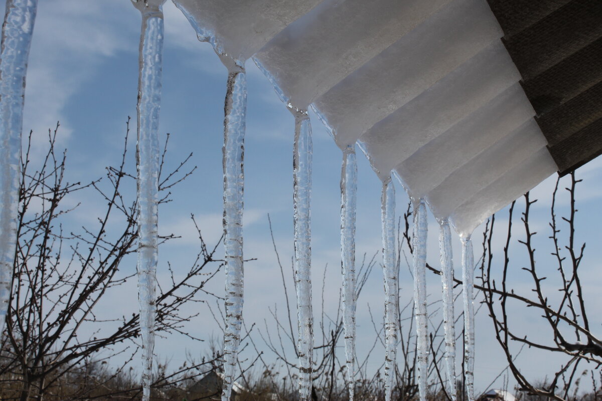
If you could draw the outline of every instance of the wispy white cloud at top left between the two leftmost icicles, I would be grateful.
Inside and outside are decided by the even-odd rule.
[[[127,7],[126,7],[127,6]],[[64,108],[101,61],[131,49],[128,38],[140,28],[135,10],[119,0],[40,2],[29,54],[23,130],[36,140],[61,121],[61,140],[72,132]],[[110,13],[107,10],[111,10]]]

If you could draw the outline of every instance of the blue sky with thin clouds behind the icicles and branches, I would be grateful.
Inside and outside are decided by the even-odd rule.
[[[48,128],[61,121],[60,145],[69,149],[72,179],[92,180],[104,174],[104,167],[119,161],[125,121],[132,117],[135,132],[135,102],[137,97],[138,38],[140,16],[129,0],[41,1],[34,39],[29,58],[26,87],[24,132],[34,130],[36,143],[44,141]],[[161,210],[161,233],[175,233],[182,238],[160,249],[159,280],[169,260],[176,271],[185,269],[196,254],[196,234],[190,222],[190,213],[197,216],[208,243],[221,234],[222,215],[222,142],[223,97],[226,69],[206,43],[199,43],[196,34],[184,16],[171,2],[165,5],[166,41],[164,47],[163,100],[160,132],[172,133],[171,164],[194,152],[192,164],[198,170],[174,191],[175,201]],[[292,255],[292,143],[293,117],[276,96],[267,79],[251,62],[247,63],[249,82],[247,137],[245,151],[245,245],[246,257],[258,260],[246,265],[246,321],[261,323],[270,319],[268,307],[282,304],[279,270],[270,242],[267,213],[272,216],[276,242],[285,262],[290,266]],[[312,192],[312,254],[314,266],[314,299],[319,311],[320,289],[324,266],[326,270],[326,309],[335,311],[340,283],[340,164],[341,152],[326,130],[313,118],[314,131],[314,189]],[[133,137],[132,137],[133,138]],[[42,145],[36,147],[41,152]],[[133,153],[131,153],[133,161]],[[362,155],[358,155],[358,259],[363,253],[374,254],[380,249],[380,182]],[[602,162],[596,160],[580,168],[579,177],[585,179],[579,190],[579,238],[588,241],[582,275],[590,319],[600,330],[601,317],[594,316],[594,306],[602,303],[598,291],[600,274],[599,229],[602,215]],[[535,189],[541,200],[533,210],[532,219],[538,231],[538,251],[542,257],[539,268],[554,271],[547,242],[551,189],[556,177],[551,177]],[[565,184],[566,185],[566,184]],[[94,213],[102,207],[92,192],[82,194],[82,207],[74,214],[79,221],[92,224]],[[407,197],[397,186],[398,212],[403,213]],[[560,204],[566,206],[566,198]],[[498,222],[506,219],[501,212]],[[501,224],[500,224],[501,226]],[[516,224],[517,236],[522,233]],[[479,229],[475,237],[479,237]],[[429,226],[429,263],[438,266],[438,228],[431,218]],[[503,238],[495,237],[497,252]],[[513,245],[512,250],[518,250]],[[478,258],[479,246],[475,244]],[[455,240],[456,275],[459,275],[459,240]],[[477,259],[476,258],[476,259]],[[529,293],[528,277],[520,271],[522,256],[512,257],[515,268],[510,280],[515,288]],[[125,269],[135,269],[135,265]],[[163,269],[163,272],[161,272]],[[288,271],[287,271],[288,272]],[[290,272],[288,272],[290,273]],[[552,274],[552,273],[550,273]],[[223,291],[222,277],[214,282],[216,291]],[[276,281],[275,281],[276,280]],[[402,261],[401,303],[412,297],[411,276]],[[136,307],[135,284],[116,293],[107,304],[106,313],[119,315]],[[440,281],[428,277],[431,299],[440,298]],[[551,288],[553,283],[550,283]],[[366,343],[374,339],[367,305],[375,316],[382,316],[383,285],[380,267],[374,269],[358,303],[358,352],[365,353]],[[124,306],[126,305],[126,306]],[[461,304],[456,305],[461,311]],[[218,330],[207,310],[199,311],[190,329],[196,335],[208,338]],[[334,312],[333,312],[334,313]],[[544,332],[533,314],[513,310],[517,325],[527,332]],[[440,319],[440,318],[439,318]],[[436,321],[437,317],[433,317]],[[544,329],[545,326],[541,326]],[[536,334],[537,335],[537,334]],[[539,334],[541,335],[541,334]],[[547,334],[544,334],[547,335]],[[261,340],[259,340],[261,341]],[[158,358],[171,358],[176,364],[184,360],[186,350],[202,354],[197,343],[159,339]],[[374,351],[372,369],[379,364],[382,349]],[[527,355],[527,353],[529,353]],[[383,355],[382,355],[383,357]],[[491,323],[482,310],[477,316],[477,389],[485,387],[505,366],[492,338]],[[551,362],[556,358],[524,351],[524,373],[530,377],[551,375]],[[548,363],[549,362],[549,363]],[[589,369],[589,368],[588,368]],[[499,386],[498,386],[499,387]]]

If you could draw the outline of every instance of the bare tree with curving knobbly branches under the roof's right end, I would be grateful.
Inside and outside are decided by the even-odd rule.
[[[533,231],[530,224],[530,211],[536,200],[531,200],[527,193],[524,196],[525,207],[521,213],[521,223],[524,227],[524,240],[518,240],[524,245],[528,263],[521,266],[521,269],[527,272],[532,280],[532,295],[521,295],[518,290],[509,288],[507,277],[510,269],[516,269],[518,266],[510,266],[509,248],[511,241],[511,229],[515,213],[516,203],[513,203],[509,210],[508,227],[506,234],[506,245],[503,251],[503,269],[501,271],[501,281],[495,281],[492,272],[492,253],[491,239],[495,224],[495,216],[491,218],[488,228],[483,234],[483,263],[482,271],[482,290],[485,294],[485,304],[488,307],[489,315],[495,328],[495,335],[498,343],[506,354],[510,371],[518,381],[520,390],[526,391],[533,396],[541,396],[549,399],[568,401],[580,399],[576,394],[576,388],[579,388],[582,371],[580,367],[589,364],[591,369],[591,380],[594,394],[600,388],[600,364],[602,363],[602,340],[598,337],[589,325],[588,310],[586,308],[586,299],[583,292],[582,281],[579,277],[579,267],[583,261],[585,242],[576,242],[576,186],[582,180],[577,180],[575,173],[570,176],[570,184],[565,188],[569,194],[569,207],[565,216],[562,216],[564,228],[568,231],[566,243],[560,238],[561,227],[557,218],[557,193],[559,190],[560,178],[556,182],[553,192],[550,216],[550,240],[552,243],[552,252],[556,260],[557,281],[560,288],[551,289],[545,287],[544,280],[550,280],[548,277],[542,277],[536,268],[536,253],[533,239],[536,232]],[[547,269],[549,274],[551,269]],[[510,302],[524,305],[524,307],[534,308],[541,313],[542,327],[547,329],[547,337],[551,341],[545,340],[543,331],[538,335],[529,335],[519,325],[512,325],[509,319],[507,308]],[[595,308],[597,312],[597,308]],[[551,379],[544,382],[534,382],[521,373],[515,354],[512,351],[512,344],[525,345],[529,348],[535,348],[551,352],[554,354],[566,355],[565,362],[557,367]],[[594,373],[597,370],[597,373]],[[587,372],[585,372],[587,374]]]

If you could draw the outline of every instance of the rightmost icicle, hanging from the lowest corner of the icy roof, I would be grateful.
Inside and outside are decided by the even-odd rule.
[[[468,401],[474,401],[474,254],[470,235],[462,239],[462,295],[464,298],[464,374]]]

